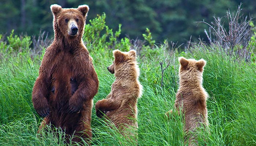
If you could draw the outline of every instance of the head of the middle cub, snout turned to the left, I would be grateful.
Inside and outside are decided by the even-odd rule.
[[[108,71],[114,73],[115,76],[122,76],[134,73],[135,76],[139,76],[136,73],[138,71],[138,65],[136,62],[136,51],[130,50],[129,52],[121,52],[120,50],[114,50],[114,62],[108,66]]]

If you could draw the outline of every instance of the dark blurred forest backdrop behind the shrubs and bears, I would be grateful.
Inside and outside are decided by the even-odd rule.
[[[244,15],[256,15],[256,3],[252,0],[1,0],[0,34],[26,33],[38,35],[40,31],[49,32],[53,37],[51,4],[63,8],[77,8],[87,4],[90,7],[87,20],[97,14],[106,13],[106,25],[113,30],[121,26],[121,38],[143,38],[146,28],[152,32],[156,43],[167,41],[184,43],[206,40],[204,29],[209,26],[213,16],[223,17],[227,10],[237,11],[242,3]],[[89,21],[87,21],[89,23]]]

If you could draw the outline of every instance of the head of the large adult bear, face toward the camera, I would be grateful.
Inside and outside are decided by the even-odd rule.
[[[68,42],[82,39],[86,21],[88,5],[79,5],[78,8],[61,8],[60,5],[50,6],[53,14],[53,28],[55,39],[64,37]]]

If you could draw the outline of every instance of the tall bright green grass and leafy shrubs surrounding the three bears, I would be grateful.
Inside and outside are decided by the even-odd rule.
[[[86,25],[84,42],[94,59],[99,78],[99,90],[94,104],[105,98],[111,89],[114,75],[106,69],[113,62],[112,50],[137,50],[139,80],[143,95],[138,99],[138,145],[184,146],[183,123],[177,114],[170,119],[165,112],[174,106],[178,88],[178,57],[205,59],[203,87],[207,100],[210,134],[200,133],[199,144],[207,146],[256,146],[256,64],[226,55],[217,46],[193,45],[186,51],[170,51],[167,43],[154,45],[148,31],[146,43],[136,46],[128,38],[117,41],[121,30],[112,32],[105,26],[104,15]],[[0,37],[1,38],[1,37]],[[15,37],[14,37],[15,38]],[[19,38],[16,38],[17,40]],[[27,40],[26,40],[27,41]],[[15,43],[17,45],[17,42]],[[31,92],[38,77],[42,50],[33,47],[19,49],[10,42],[0,43],[0,145],[1,146],[59,146],[64,144],[60,133],[43,134],[37,130],[42,120],[33,108]],[[31,44],[31,42],[30,42]],[[30,45],[32,46],[32,45]],[[20,49],[22,48],[22,49]],[[161,87],[161,65],[163,85]],[[105,126],[93,108],[91,127],[92,146],[136,145],[123,138],[116,130]],[[205,140],[205,141],[204,141]]]

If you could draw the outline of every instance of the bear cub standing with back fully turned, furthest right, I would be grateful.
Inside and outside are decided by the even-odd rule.
[[[202,87],[206,61],[204,59],[196,61],[184,57],[180,57],[179,61],[180,86],[176,93],[174,109],[178,113],[182,112],[184,114],[185,143],[192,146],[197,145],[196,135],[192,135],[192,133],[196,132],[198,127],[208,126],[206,107],[208,94]],[[170,113],[172,113],[172,110]],[[169,112],[166,114],[169,114]]]

